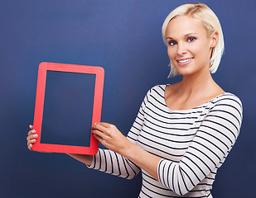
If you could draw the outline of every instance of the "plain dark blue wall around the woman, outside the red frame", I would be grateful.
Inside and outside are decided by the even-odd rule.
[[[147,90],[167,79],[161,27],[185,0],[0,1],[0,197],[137,197],[132,181],[89,170],[60,153],[27,149],[41,62],[105,69],[102,120],[127,134]],[[195,1],[190,1],[195,2]],[[237,143],[217,174],[217,198],[254,197],[256,2],[201,1],[219,16],[225,54],[213,76],[244,105]]]

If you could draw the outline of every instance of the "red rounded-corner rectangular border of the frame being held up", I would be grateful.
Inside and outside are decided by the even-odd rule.
[[[62,145],[62,144],[41,144],[41,124],[44,109],[45,89],[46,89],[46,72],[69,72],[69,73],[89,73],[95,74],[94,86],[94,106],[92,114],[92,125],[100,121],[102,98],[104,89],[104,68],[88,65],[77,64],[55,64],[55,63],[41,63],[38,69],[37,87],[36,87],[36,106],[34,114],[33,129],[36,130],[38,138],[33,144],[33,150],[49,153],[76,153],[94,155],[98,152],[99,142],[90,135],[89,147]]]

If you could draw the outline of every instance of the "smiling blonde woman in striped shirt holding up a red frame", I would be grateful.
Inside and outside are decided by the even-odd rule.
[[[224,40],[209,7],[177,7],[162,26],[171,61],[170,76],[181,82],[152,87],[142,101],[128,137],[108,123],[93,134],[108,150],[94,156],[70,154],[90,168],[133,178],[142,170],[139,197],[212,197],[217,169],[239,135],[242,105],[211,78],[220,64]],[[28,133],[32,149],[36,131]]]

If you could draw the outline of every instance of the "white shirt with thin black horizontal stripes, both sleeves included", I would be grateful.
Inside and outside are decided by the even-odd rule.
[[[161,157],[159,181],[142,170],[139,197],[212,197],[217,169],[239,135],[242,104],[225,92],[190,110],[171,111],[165,102],[166,85],[147,92],[128,139]],[[131,179],[140,167],[118,153],[99,149],[91,168]]]

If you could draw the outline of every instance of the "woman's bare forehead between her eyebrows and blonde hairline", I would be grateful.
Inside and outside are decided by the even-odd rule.
[[[206,35],[203,22],[191,16],[176,16],[167,25],[167,37],[173,38],[188,34]]]

